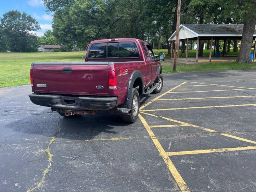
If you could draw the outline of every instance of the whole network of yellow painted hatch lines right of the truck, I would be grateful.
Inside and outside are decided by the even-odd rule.
[[[193,124],[189,124],[189,123],[185,123],[185,122],[181,122],[178,120],[173,120],[170,118],[166,118],[166,117],[162,117],[162,116],[156,116],[154,114],[149,114],[149,113],[145,113],[145,111],[156,111],[156,110],[144,110],[143,112],[143,108],[145,108],[146,106],[148,106],[149,104],[151,104],[152,102],[158,100],[159,98],[161,98],[162,96],[166,95],[167,93],[172,92],[173,90],[175,90],[176,88],[184,85],[186,82],[183,82],[182,84],[170,89],[167,92],[164,92],[163,94],[161,94],[160,96],[152,99],[150,102],[148,102],[147,104],[144,104],[143,106],[140,107],[140,113],[142,114],[147,114],[150,116],[154,116],[157,118],[164,118],[166,120],[169,120],[171,122],[177,123],[176,125],[158,125],[158,126],[149,126],[146,122],[146,120],[142,117],[141,114],[139,114],[139,118],[142,122],[142,124],[144,125],[144,127],[146,128],[148,134],[150,135],[150,138],[152,139],[152,141],[154,142],[158,152],[160,153],[160,156],[162,156],[164,162],[166,163],[168,169],[170,170],[172,176],[174,177],[174,179],[176,180],[178,186],[180,187],[182,192],[190,192],[190,189],[188,188],[186,182],[183,180],[182,176],[180,175],[180,173],[178,172],[178,170],[176,169],[176,167],[174,166],[174,164],[172,163],[172,161],[170,160],[169,156],[172,155],[180,155],[180,154],[190,154],[191,152],[193,152],[192,154],[199,154],[199,153],[206,153],[206,152],[225,152],[225,151],[235,151],[235,150],[250,150],[250,149],[256,149],[256,146],[248,146],[248,147],[237,147],[237,148],[221,148],[221,149],[210,149],[210,150],[193,150],[193,151],[183,151],[183,152],[166,152],[164,150],[164,148],[162,147],[162,145],[160,144],[160,142],[158,141],[158,139],[156,138],[156,136],[154,135],[154,133],[152,132],[151,128],[155,128],[155,127],[176,127],[176,126],[191,126],[194,128],[199,128],[201,130],[205,130],[208,132],[215,132],[218,133],[216,130],[212,130],[212,129],[208,129],[208,128],[204,128],[204,127],[200,127],[197,125],[193,125]],[[216,86],[226,86],[226,85],[218,85],[218,84],[204,84],[204,83],[197,83],[197,82],[189,82],[189,83],[196,83],[196,84],[202,84],[202,85],[216,85]],[[237,87],[237,86],[228,86],[228,87],[234,87],[234,88],[241,88],[241,89],[232,89],[232,90],[250,90],[250,89],[255,89],[255,88],[243,88],[243,87]],[[212,91],[231,91],[231,90],[212,90]],[[196,92],[210,92],[210,91],[196,91]],[[174,93],[182,93],[182,92],[174,92]],[[236,98],[236,97],[243,97],[243,96],[234,96],[234,97],[218,97],[218,98]],[[246,97],[246,96],[244,96]],[[247,96],[250,97],[250,96]],[[253,97],[253,96],[251,96]],[[215,97],[216,98],[216,97]],[[162,99],[162,100],[187,100],[187,99],[202,99],[202,98],[181,98],[181,99]],[[229,105],[231,106],[231,105]],[[244,105],[232,105],[232,106],[256,106],[256,104],[244,104]],[[203,108],[214,108],[214,107],[224,107],[224,106],[205,106]],[[227,107],[227,106],[225,106]],[[196,108],[202,108],[202,107],[196,107]],[[177,110],[178,108],[172,108],[171,110]],[[166,110],[166,109],[160,109],[160,110]],[[168,109],[167,109],[168,110]],[[218,133],[221,134],[223,136],[226,137],[230,137],[230,138],[234,138],[237,140],[241,140],[244,142],[250,142],[253,144],[256,144],[256,142],[252,141],[252,140],[248,140],[248,139],[244,139],[244,138],[240,138],[237,136],[232,136],[230,134],[225,134],[225,133]],[[176,154],[174,154],[176,153]],[[178,154],[180,153],[180,154]]]

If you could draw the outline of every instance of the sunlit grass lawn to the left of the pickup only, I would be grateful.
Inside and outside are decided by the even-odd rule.
[[[0,53],[0,87],[30,84],[34,62],[81,61],[84,52]]]

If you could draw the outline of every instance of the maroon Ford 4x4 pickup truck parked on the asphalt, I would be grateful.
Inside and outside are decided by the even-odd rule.
[[[135,122],[140,97],[162,90],[164,53],[154,55],[139,39],[95,40],[85,62],[32,63],[30,100],[48,106],[61,116],[118,112]]]

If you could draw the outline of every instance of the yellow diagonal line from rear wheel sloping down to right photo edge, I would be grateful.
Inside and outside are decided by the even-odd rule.
[[[188,126],[191,126],[191,127],[194,127],[194,128],[198,128],[198,129],[202,129],[202,130],[205,130],[205,131],[208,131],[208,132],[215,132],[215,133],[217,132],[216,130],[200,127],[200,126],[197,126],[197,125],[193,125],[193,124],[190,124],[190,123],[185,123],[185,122],[174,120],[174,119],[170,119],[170,118],[167,118],[167,117],[156,116],[156,115],[145,113],[145,112],[141,112],[141,113],[146,114],[146,115],[150,115],[150,116],[154,116],[154,117],[160,117],[160,118],[169,120],[171,122],[176,122],[176,123],[179,123],[179,124],[186,124]],[[233,138],[233,139],[237,139],[237,140],[240,140],[240,141],[256,144],[256,141],[248,140],[248,139],[245,139],[245,138],[242,138],[242,137],[237,137],[237,136],[226,134],[226,133],[219,133],[219,134],[223,135],[223,136],[226,136],[226,137]]]

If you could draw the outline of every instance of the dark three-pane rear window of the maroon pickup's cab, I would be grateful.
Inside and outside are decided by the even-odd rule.
[[[135,42],[113,42],[92,44],[88,58],[138,58],[140,57]]]

